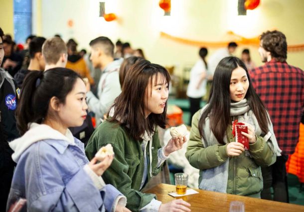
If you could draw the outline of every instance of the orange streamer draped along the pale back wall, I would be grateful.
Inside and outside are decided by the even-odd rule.
[[[256,47],[259,47],[260,45],[259,37],[246,38],[241,35],[235,34],[233,31],[228,31],[227,34],[235,36],[236,38],[233,39],[233,41],[235,41],[237,44],[252,45]],[[190,40],[186,38],[176,37],[162,31],[160,32],[160,36],[187,45],[207,46],[211,48],[226,47],[228,43],[231,41],[229,40],[229,41],[219,41],[219,42],[208,42],[208,41]],[[288,51],[304,51],[304,44],[288,45]]]

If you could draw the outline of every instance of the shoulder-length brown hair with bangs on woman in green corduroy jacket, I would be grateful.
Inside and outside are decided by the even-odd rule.
[[[148,95],[152,95],[152,89],[150,89],[151,93],[148,93],[148,87],[150,85],[152,88],[153,77],[156,85],[157,80],[159,80],[157,79],[158,73],[161,77],[160,80],[169,86],[170,75],[164,67],[148,60],[140,60],[132,65],[127,72],[122,93],[115,99],[110,108],[110,110],[114,108],[115,112],[108,121],[127,126],[134,139],[140,140],[145,131],[151,134],[155,130],[155,125],[165,128],[167,102],[161,114],[151,113],[145,118],[145,98],[148,102]]]

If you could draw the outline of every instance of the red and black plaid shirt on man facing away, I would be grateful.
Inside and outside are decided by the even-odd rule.
[[[299,141],[304,107],[303,70],[271,60],[249,70],[249,74],[253,87],[268,109],[282,154],[293,154]]]

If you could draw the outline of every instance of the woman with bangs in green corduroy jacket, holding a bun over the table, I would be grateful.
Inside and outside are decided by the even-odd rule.
[[[190,212],[190,205],[181,199],[162,204],[155,195],[140,192],[159,173],[167,156],[186,141],[186,137],[178,137],[164,148],[159,144],[156,126],[165,127],[169,80],[165,68],[147,60],[131,66],[110,118],[99,125],[86,147],[90,159],[101,147],[112,144],[115,158],[103,179],[127,197],[131,211]]]

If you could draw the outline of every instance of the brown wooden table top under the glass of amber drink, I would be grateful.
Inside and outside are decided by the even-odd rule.
[[[241,201],[245,204],[245,212],[304,212],[304,206],[279,203],[256,198],[229,195],[194,189],[199,194],[174,198],[168,193],[175,192],[175,186],[158,184],[146,193],[155,194],[157,200],[167,203],[174,199],[183,199],[191,204],[191,212],[229,212],[231,201]]]

